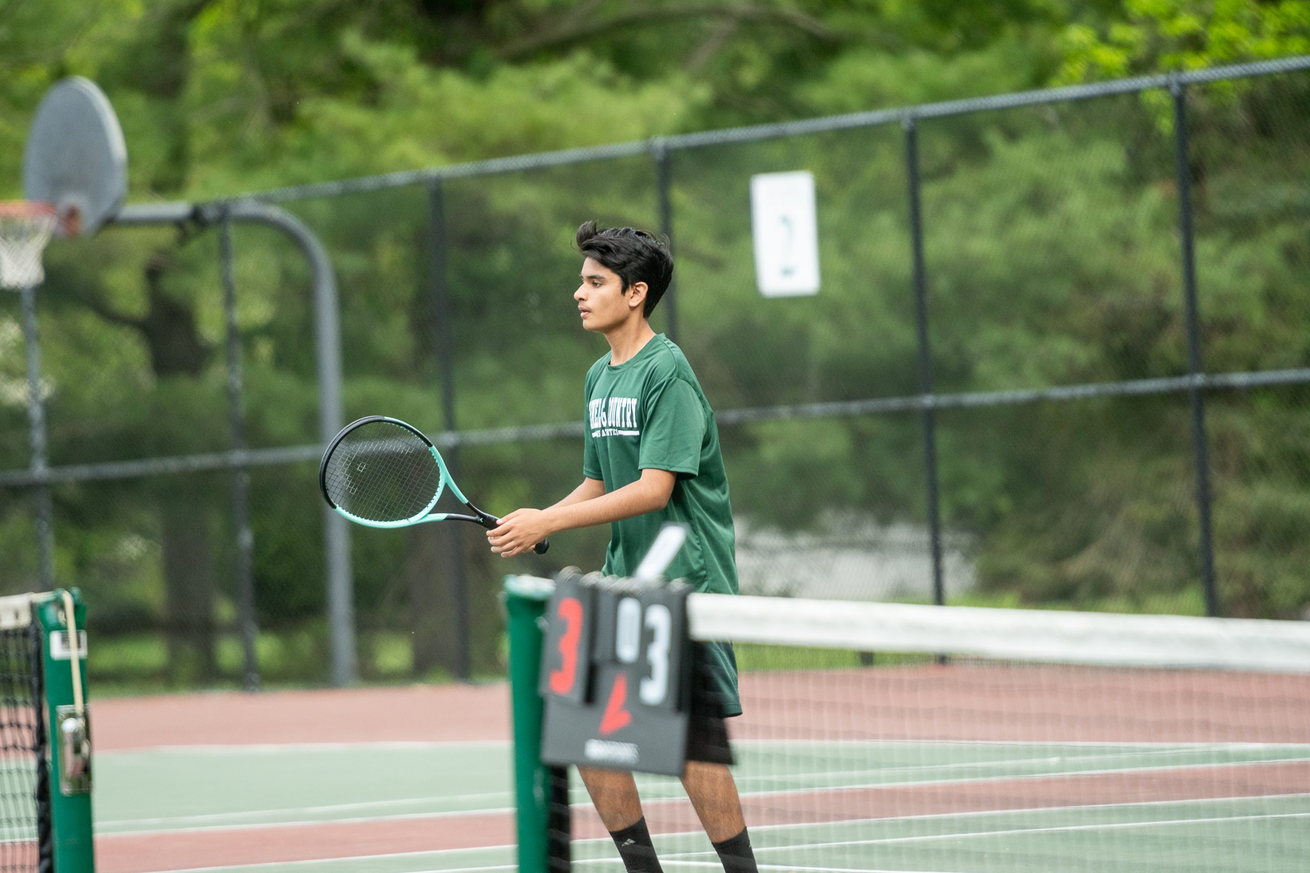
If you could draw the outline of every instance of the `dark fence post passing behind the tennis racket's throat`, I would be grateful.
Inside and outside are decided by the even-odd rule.
[[[428,194],[428,250],[431,253],[431,304],[436,342],[438,378],[441,382],[443,427],[456,431],[455,416],[455,331],[451,330],[451,288],[447,277],[445,196],[441,179],[432,179]],[[452,476],[457,476],[458,446],[443,455]],[[469,630],[469,580],[464,567],[464,526],[441,525],[447,547],[447,569],[452,588],[452,631],[455,636],[455,675],[465,682],[473,677],[472,633]]]

